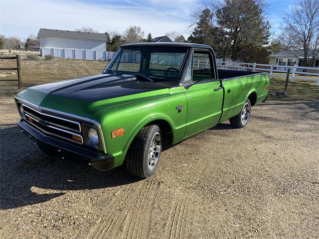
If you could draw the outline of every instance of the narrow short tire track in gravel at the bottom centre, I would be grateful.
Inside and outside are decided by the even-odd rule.
[[[178,201],[170,210],[170,217],[166,225],[165,236],[169,239],[185,238],[187,219],[189,214],[189,201]],[[175,209],[174,209],[175,208]]]

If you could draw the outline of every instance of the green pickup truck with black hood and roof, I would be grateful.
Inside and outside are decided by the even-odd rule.
[[[99,170],[125,163],[146,178],[163,147],[226,119],[244,127],[269,83],[266,73],[217,69],[206,45],[136,43],[100,75],[30,87],[15,102],[21,131],[42,151]]]

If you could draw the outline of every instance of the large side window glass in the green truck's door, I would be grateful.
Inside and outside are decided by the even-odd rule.
[[[209,52],[194,51],[192,80],[197,81],[215,78],[213,66]]]

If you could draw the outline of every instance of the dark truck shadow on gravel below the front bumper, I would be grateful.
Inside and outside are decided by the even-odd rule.
[[[70,190],[108,188],[141,180],[124,167],[103,172],[73,162],[76,159],[50,157],[17,126],[0,128],[0,137],[0,209],[47,202]]]

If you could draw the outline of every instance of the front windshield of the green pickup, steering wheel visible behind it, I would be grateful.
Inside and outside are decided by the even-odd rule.
[[[156,81],[174,81],[181,71],[187,48],[122,47],[104,73],[143,75]]]

